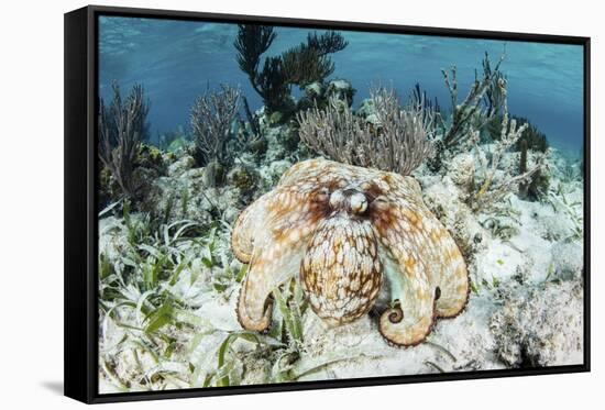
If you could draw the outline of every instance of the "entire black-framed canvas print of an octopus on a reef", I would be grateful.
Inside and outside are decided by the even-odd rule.
[[[65,15],[65,392],[590,369],[590,40]]]

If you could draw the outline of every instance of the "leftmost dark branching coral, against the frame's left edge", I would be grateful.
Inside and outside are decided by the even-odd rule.
[[[99,158],[111,173],[122,192],[130,198],[136,195],[133,178],[136,153],[145,137],[145,120],[150,104],[144,99],[141,85],[132,87],[122,100],[120,88],[112,86],[113,98],[109,107],[100,102],[99,112]]]

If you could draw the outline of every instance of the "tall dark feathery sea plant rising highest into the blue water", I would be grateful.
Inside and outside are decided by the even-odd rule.
[[[234,46],[238,64],[248,75],[252,88],[262,97],[270,113],[292,112],[295,103],[290,96],[293,85],[305,87],[323,81],[334,70],[330,54],[346,47],[340,33],[328,31],[321,35],[309,33],[306,43],[300,43],[278,56],[262,55],[273,44],[276,33],[273,26],[239,24]]]

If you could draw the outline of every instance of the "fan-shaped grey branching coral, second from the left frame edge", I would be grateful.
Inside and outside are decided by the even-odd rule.
[[[210,185],[217,182],[220,169],[229,166],[233,153],[228,149],[231,123],[238,114],[240,90],[227,85],[218,92],[199,97],[191,110],[196,156],[211,171]]]

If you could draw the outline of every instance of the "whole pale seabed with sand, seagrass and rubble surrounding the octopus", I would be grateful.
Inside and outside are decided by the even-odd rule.
[[[186,149],[164,153],[165,171],[136,210],[121,202],[100,213],[100,392],[583,362],[583,180],[579,163],[557,149],[539,200],[509,193],[485,212],[464,200],[469,154],[439,174],[426,166],[413,174],[472,281],[464,311],[438,320],[426,342],[389,346],[374,311],[331,328],[296,282],[277,295],[268,333],[242,330],[235,301],[246,266],[231,253],[230,229],[302,156],[284,148],[287,133],[271,128],[266,153],[239,157],[220,187],[207,186]]]

